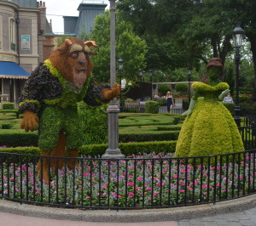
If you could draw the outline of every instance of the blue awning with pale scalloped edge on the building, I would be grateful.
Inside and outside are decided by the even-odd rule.
[[[0,77],[27,79],[30,74],[15,62],[0,61]]]

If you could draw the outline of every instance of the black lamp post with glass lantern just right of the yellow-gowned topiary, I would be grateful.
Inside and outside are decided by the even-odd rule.
[[[239,63],[241,42],[244,35],[244,31],[240,27],[240,22],[237,22],[236,28],[232,31],[234,48],[235,48],[235,61],[236,61],[236,105],[235,105],[235,121],[237,127],[241,126],[240,119],[240,105],[239,105]]]

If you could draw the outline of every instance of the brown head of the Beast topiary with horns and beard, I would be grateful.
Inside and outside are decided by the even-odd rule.
[[[97,46],[94,41],[83,42],[79,38],[65,42],[49,56],[52,65],[64,78],[73,82],[75,87],[83,88],[87,76],[92,70],[92,63],[89,56],[94,54],[90,51],[90,46]]]

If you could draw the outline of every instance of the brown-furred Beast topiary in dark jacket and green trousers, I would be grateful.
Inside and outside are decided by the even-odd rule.
[[[38,129],[38,147],[41,155],[77,157],[82,145],[82,129],[77,103],[102,105],[120,93],[118,84],[96,86],[92,79],[93,64],[90,47],[96,42],[79,38],[66,39],[49,59],[32,72],[20,96],[20,113],[24,115],[20,127],[26,132]],[[62,168],[63,158],[51,161],[52,168]],[[67,167],[73,169],[72,159]],[[46,158],[38,163],[45,183],[49,183],[49,165]]]

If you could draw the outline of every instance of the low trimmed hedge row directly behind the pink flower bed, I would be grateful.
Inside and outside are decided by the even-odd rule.
[[[142,142],[142,143],[120,143],[119,149],[124,155],[139,155],[145,153],[160,153],[168,152],[174,153],[176,147],[176,140],[174,141],[157,141],[157,142]],[[108,144],[88,144],[83,145],[80,150],[80,155],[96,156],[105,154],[108,149]],[[25,148],[3,148],[1,152],[17,153],[25,155],[40,155],[38,147],[25,147]]]

